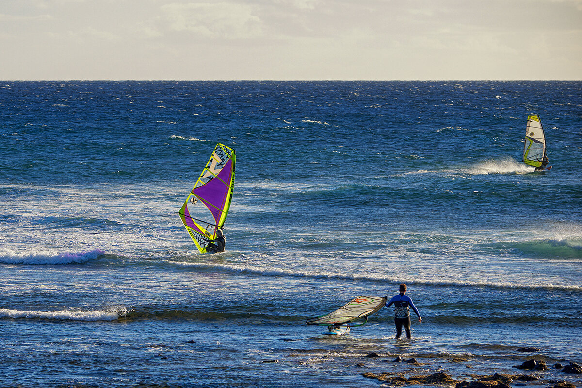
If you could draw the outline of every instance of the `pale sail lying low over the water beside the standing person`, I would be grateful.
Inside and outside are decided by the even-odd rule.
[[[374,314],[386,304],[386,297],[359,296],[347,302],[336,311],[326,315],[307,319],[307,325],[320,326],[361,326],[368,321],[368,315]],[[363,323],[355,324],[353,321],[365,319]],[[350,325],[350,323],[354,323]]]

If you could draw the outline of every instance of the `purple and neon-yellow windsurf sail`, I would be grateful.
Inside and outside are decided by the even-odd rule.
[[[178,212],[201,253],[222,229],[235,184],[235,150],[218,143]],[[209,213],[210,212],[210,213]]]

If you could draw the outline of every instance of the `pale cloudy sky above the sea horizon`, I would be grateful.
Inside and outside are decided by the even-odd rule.
[[[0,0],[2,80],[582,80],[582,0]]]

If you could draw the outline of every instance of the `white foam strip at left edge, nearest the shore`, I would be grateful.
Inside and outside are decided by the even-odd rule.
[[[127,312],[125,306],[110,307],[102,310],[80,311],[34,311],[34,310],[11,310],[0,308],[0,318],[42,318],[61,319],[65,321],[115,321]]]

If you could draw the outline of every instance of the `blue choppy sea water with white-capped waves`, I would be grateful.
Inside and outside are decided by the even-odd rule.
[[[531,113],[551,172],[521,163]],[[200,255],[174,212],[217,142],[237,155],[227,250]],[[580,81],[1,81],[0,386],[581,362],[581,155]],[[392,309],[339,338],[304,323],[400,282],[411,341]]]

